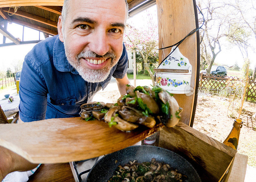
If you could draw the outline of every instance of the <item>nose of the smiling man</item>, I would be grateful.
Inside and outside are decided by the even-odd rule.
[[[90,50],[100,56],[109,51],[108,37],[105,30],[95,30],[90,41]]]

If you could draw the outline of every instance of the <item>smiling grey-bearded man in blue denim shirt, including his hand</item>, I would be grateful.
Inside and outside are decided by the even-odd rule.
[[[112,75],[120,93],[125,93],[127,7],[124,0],[65,0],[59,35],[38,43],[25,57],[21,121],[78,116],[80,105],[104,89]],[[36,166],[0,147],[0,181],[12,171]]]

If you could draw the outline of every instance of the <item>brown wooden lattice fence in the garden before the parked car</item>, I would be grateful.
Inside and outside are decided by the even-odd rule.
[[[227,87],[228,80],[240,80],[238,77],[226,76],[226,77],[216,77],[213,75],[206,76],[201,73],[199,79],[199,88],[200,89],[209,89],[214,93],[220,92]],[[250,80],[248,81],[248,87],[246,91],[246,100],[248,98],[256,100],[256,82]]]

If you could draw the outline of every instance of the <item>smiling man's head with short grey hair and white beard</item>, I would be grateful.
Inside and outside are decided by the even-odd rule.
[[[123,52],[124,0],[69,0],[58,32],[69,63],[87,82],[104,81]]]

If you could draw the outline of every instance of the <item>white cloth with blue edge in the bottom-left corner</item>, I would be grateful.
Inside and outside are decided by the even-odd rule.
[[[38,167],[41,164],[39,164],[35,169],[29,170],[29,171],[24,171],[24,172],[19,172],[19,171],[14,171],[8,174],[2,182],[27,182],[28,177],[34,174],[34,172],[38,169]]]

